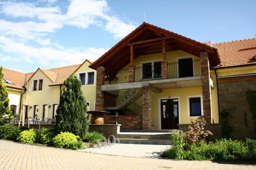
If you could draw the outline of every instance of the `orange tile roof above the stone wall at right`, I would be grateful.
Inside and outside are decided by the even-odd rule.
[[[213,45],[218,49],[220,67],[256,64],[256,38],[221,42]]]

